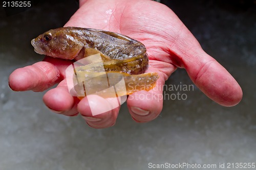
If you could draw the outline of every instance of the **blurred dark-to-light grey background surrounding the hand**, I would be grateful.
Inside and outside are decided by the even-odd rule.
[[[135,123],[122,105],[117,123],[92,129],[80,117],[51,113],[45,92],[13,92],[11,72],[37,61],[32,38],[62,27],[76,1],[40,1],[27,11],[0,10],[0,170],[148,169],[148,163],[217,164],[256,160],[256,5],[253,1],[161,1],[203,49],[236,78],[243,100],[223,107],[198,88],[186,100],[165,100],[153,122]],[[255,1],[254,1],[255,2]],[[167,85],[193,84],[178,69]],[[179,168],[177,168],[179,169]],[[219,168],[216,168],[219,169]]]

